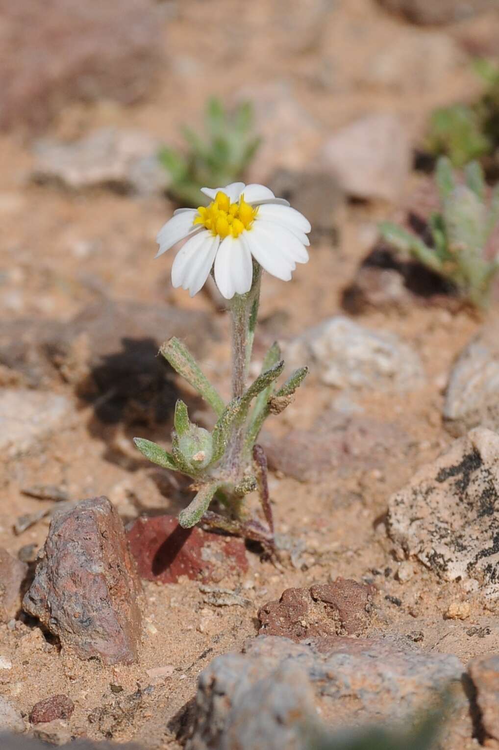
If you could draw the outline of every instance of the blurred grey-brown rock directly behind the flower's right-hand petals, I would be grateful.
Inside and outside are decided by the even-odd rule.
[[[275,195],[288,200],[312,224],[312,242],[336,240],[338,213],[344,202],[336,179],[327,172],[276,169],[268,186]]]

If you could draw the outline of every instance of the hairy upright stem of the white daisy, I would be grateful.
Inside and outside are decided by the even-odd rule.
[[[253,283],[247,294],[236,294],[230,304],[232,316],[232,396],[241,398],[247,386],[249,361],[255,337],[260,301],[261,267],[253,263]],[[238,483],[244,475],[244,428],[236,424],[229,440],[224,468]]]

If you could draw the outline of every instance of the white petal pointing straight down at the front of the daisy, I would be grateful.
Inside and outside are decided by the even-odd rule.
[[[246,294],[251,289],[253,264],[249,248],[240,237],[227,236],[220,244],[215,259],[215,281],[226,299]]]

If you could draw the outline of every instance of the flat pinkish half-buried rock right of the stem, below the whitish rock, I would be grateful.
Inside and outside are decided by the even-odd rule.
[[[335,410],[318,417],[310,430],[293,429],[283,437],[264,432],[261,443],[270,468],[299,481],[321,481],[331,472],[387,472],[411,450],[399,425]]]

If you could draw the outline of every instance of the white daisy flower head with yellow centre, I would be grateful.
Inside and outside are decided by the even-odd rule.
[[[174,287],[193,297],[214,266],[220,293],[232,299],[251,289],[252,257],[282,281],[291,279],[297,263],[309,260],[309,221],[268,187],[232,182],[203,187],[202,193],[211,198],[208,207],[178,208],[157,236],[156,257],[187,239],[173,262]]]

